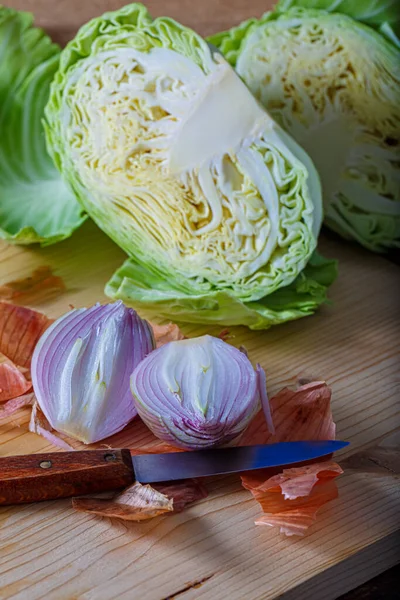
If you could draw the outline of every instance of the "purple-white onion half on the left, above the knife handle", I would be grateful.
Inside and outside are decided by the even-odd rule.
[[[55,321],[32,358],[33,388],[50,425],[86,444],[121,431],[137,414],[130,375],[154,346],[150,325],[122,302]]]

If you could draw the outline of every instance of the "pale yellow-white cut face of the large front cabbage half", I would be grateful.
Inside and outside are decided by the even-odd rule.
[[[303,268],[320,225],[307,171],[222,57],[201,69],[166,48],[103,51],[63,98],[88,211],[127,252],[249,299]]]

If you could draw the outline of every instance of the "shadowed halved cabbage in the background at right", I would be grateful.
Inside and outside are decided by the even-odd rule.
[[[353,19],[267,13],[210,38],[319,171],[325,222],[375,251],[400,245],[400,52]]]

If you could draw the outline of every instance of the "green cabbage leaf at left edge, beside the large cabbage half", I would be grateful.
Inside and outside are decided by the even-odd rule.
[[[29,13],[0,6],[0,238],[10,242],[54,243],[84,220],[42,127],[59,56]]]

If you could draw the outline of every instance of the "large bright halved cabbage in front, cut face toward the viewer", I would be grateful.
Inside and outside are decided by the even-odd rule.
[[[183,295],[185,320],[245,322],[237,305],[289,286],[316,247],[322,204],[308,156],[221,54],[140,4],[68,44],[46,132],[84,208],[130,255],[125,280],[143,284],[146,306],[167,289],[167,315]],[[115,279],[107,292],[144,300]],[[211,315],[197,298],[213,298]]]

